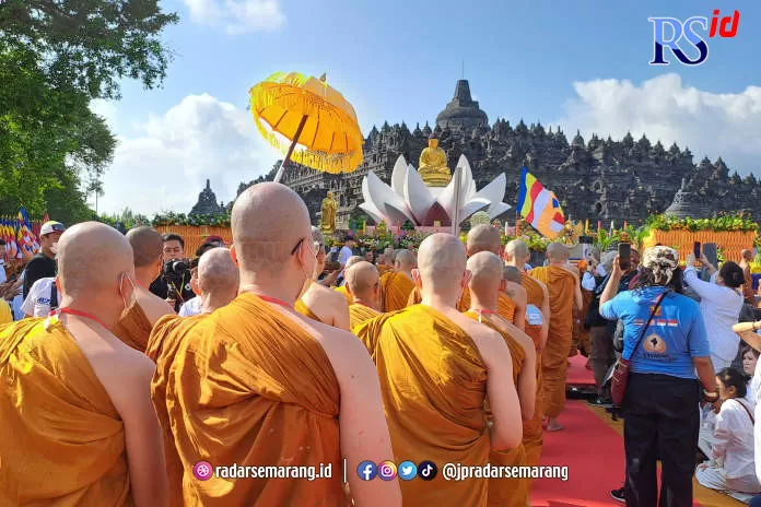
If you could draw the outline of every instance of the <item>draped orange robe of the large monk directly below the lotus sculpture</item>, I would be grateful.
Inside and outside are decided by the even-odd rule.
[[[354,329],[376,363],[395,461],[489,462],[487,368],[472,339],[425,305]],[[399,481],[406,507],[483,506],[488,480]]]

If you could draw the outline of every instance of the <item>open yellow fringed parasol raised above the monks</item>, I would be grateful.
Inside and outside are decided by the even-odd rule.
[[[362,163],[364,139],[354,108],[325,82],[297,72],[277,72],[250,91],[259,132],[289,161],[325,173],[351,173]],[[300,150],[294,150],[296,144]]]

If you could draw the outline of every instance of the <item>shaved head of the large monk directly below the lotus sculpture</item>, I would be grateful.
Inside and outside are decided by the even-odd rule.
[[[458,238],[444,233],[426,237],[420,244],[418,269],[412,271],[423,304],[436,298],[454,308],[470,281],[465,263],[465,245]]]

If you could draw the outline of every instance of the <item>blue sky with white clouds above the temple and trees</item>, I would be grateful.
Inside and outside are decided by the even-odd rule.
[[[540,120],[585,137],[644,130],[652,140],[689,144],[695,162],[721,154],[741,174],[761,174],[759,141],[748,145],[758,135],[736,141],[748,129],[761,133],[761,89],[752,87],[761,84],[758,2],[516,3],[163,1],[180,16],[165,33],[177,56],[164,87],[126,82],[120,102],[94,105],[121,141],[103,210],[189,211],[207,177],[229,201],[236,182],[267,172],[278,153],[257,138],[245,109],[248,89],[274,71],[327,72],[366,132],[384,120],[433,123],[464,62],[492,122]],[[706,62],[687,67],[667,51],[670,66],[648,64],[647,17],[710,19],[716,8],[722,15],[739,10],[739,30],[733,39],[709,39]],[[156,165],[183,172],[183,184]],[[130,185],[142,177],[156,181],[155,191]]]

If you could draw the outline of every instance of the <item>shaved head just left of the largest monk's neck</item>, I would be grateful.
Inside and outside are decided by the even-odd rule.
[[[212,248],[198,260],[201,313],[211,314],[237,296],[241,273],[226,248]]]

